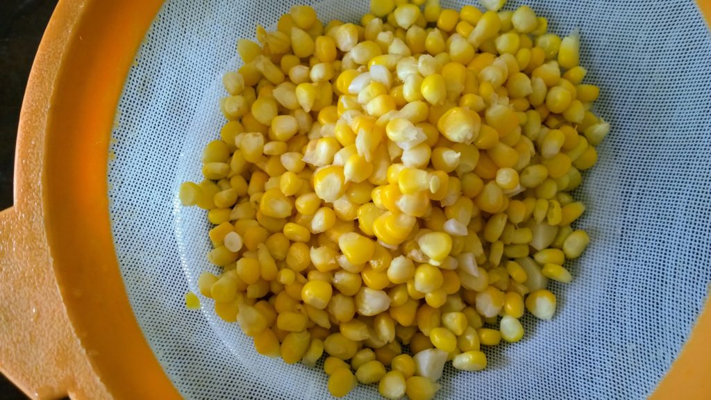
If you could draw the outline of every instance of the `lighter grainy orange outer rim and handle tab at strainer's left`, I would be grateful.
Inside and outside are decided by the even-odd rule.
[[[29,396],[109,397],[73,332],[55,280],[38,177],[52,85],[82,4],[55,11],[23,102],[15,166],[15,206],[0,211],[0,371]]]

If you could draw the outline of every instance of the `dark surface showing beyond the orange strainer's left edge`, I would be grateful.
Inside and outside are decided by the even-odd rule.
[[[12,206],[17,122],[27,77],[57,0],[0,0],[0,209]],[[0,374],[0,400],[27,399]]]

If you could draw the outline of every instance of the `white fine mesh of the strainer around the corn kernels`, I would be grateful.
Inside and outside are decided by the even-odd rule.
[[[553,32],[581,29],[581,63],[602,87],[597,113],[612,132],[576,194],[592,242],[570,265],[574,283],[552,285],[554,320],[524,317],[525,339],[486,349],[484,372],[448,367],[439,396],[641,398],[678,354],[711,280],[711,38],[688,0],[527,3]],[[324,21],[357,21],[367,7],[316,4]],[[201,149],[218,137],[220,75],[237,66],[236,39],[288,9],[166,1],[119,105],[109,164],[117,257],[144,335],[188,398],[329,398],[319,369],[258,356],[210,301],[203,312],[183,306],[212,267],[204,211],[179,206],[178,184],[201,179]],[[350,397],[373,397],[372,386]]]

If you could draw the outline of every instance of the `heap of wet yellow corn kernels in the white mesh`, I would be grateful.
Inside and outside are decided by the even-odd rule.
[[[569,283],[589,242],[568,192],[609,124],[579,36],[482,2],[375,0],[360,25],[326,26],[294,6],[257,26],[223,77],[205,180],[181,186],[223,268],[200,293],[260,354],[326,356],[333,396],[431,399],[447,361],[483,369],[525,310],[553,317],[547,283]]]

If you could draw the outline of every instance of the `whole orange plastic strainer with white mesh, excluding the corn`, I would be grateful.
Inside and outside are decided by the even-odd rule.
[[[574,283],[552,286],[555,318],[524,318],[525,339],[491,349],[483,372],[448,367],[439,397],[711,399],[711,4],[526,4],[551,31],[580,28],[602,87],[613,129],[575,194],[592,243]],[[324,21],[368,9],[312,5]],[[222,123],[236,38],[289,6],[60,1],[23,105],[16,205],[0,214],[0,367],[28,394],[329,398],[320,370],[259,357],[207,301],[183,306],[210,266],[203,211],[178,205],[178,183],[199,178]]]

